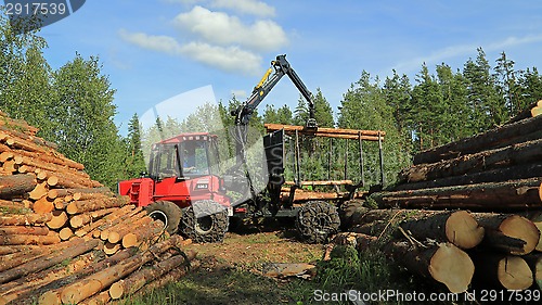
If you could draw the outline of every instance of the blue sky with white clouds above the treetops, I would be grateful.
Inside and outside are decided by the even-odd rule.
[[[518,69],[542,67],[542,2],[534,0],[89,0],[40,35],[54,68],[76,52],[100,56],[117,90],[121,131],[133,113],[191,90],[244,100],[276,54],[287,54],[335,111],[363,69],[384,78],[396,68],[414,81],[423,62],[431,72],[442,62],[462,68],[478,47],[491,64],[505,51]],[[284,78],[264,103],[294,107],[298,98]],[[179,100],[168,112],[195,105]]]

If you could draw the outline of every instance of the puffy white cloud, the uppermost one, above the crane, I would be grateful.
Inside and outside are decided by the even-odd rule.
[[[269,51],[280,49],[287,43],[286,34],[273,21],[259,20],[248,25],[236,16],[211,12],[198,5],[188,13],[179,14],[173,23],[181,30],[199,35],[206,41],[221,46],[240,45],[254,50]]]

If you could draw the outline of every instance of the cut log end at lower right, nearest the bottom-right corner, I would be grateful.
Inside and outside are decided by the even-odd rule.
[[[524,258],[506,256],[499,262],[498,277],[508,290],[525,290],[532,285],[532,271]]]

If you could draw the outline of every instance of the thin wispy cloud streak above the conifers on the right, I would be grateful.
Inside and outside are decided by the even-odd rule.
[[[393,66],[397,71],[415,71],[420,65],[425,62],[427,64],[437,64],[443,62],[446,59],[455,56],[469,55],[476,52],[478,47],[481,47],[486,52],[504,51],[506,48],[513,48],[521,45],[542,41],[542,35],[526,36],[526,37],[508,37],[504,40],[483,45],[459,45],[438,50],[429,55],[410,59],[408,61],[398,63]]]

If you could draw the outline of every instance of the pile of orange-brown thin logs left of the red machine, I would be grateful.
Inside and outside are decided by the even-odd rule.
[[[180,237],[36,132],[0,113],[0,304],[105,304],[184,275]]]

